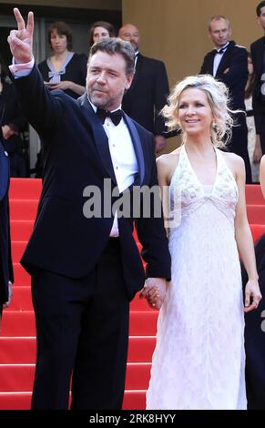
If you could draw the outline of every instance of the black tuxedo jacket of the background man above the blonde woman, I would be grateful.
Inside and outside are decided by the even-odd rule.
[[[213,76],[213,60],[216,49],[210,51],[203,60],[200,74]],[[225,73],[225,70],[229,71]],[[245,87],[248,80],[248,54],[245,47],[238,46],[234,41],[229,42],[229,46],[224,53],[215,76],[229,87],[231,97],[230,107],[245,110]]]

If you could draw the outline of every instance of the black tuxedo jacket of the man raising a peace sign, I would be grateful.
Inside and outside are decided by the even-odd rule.
[[[96,265],[113,224],[113,215],[87,219],[83,214],[87,186],[104,190],[104,179],[116,178],[108,151],[107,134],[87,95],[75,100],[62,91],[50,93],[36,66],[29,76],[15,80],[25,117],[36,128],[44,147],[43,190],[36,224],[21,263],[71,278],[86,276]],[[125,116],[138,159],[137,184],[157,184],[153,136]],[[85,191],[86,193],[86,191]],[[112,196],[111,203],[117,197]],[[97,199],[98,200],[98,199]],[[147,261],[147,276],[170,277],[170,257],[163,219],[136,221]],[[143,286],[144,271],[132,236],[133,219],[118,219],[122,262],[128,296]]]

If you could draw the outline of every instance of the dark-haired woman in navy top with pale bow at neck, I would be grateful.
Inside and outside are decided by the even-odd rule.
[[[86,91],[87,56],[72,52],[72,31],[64,22],[56,22],[48,29],[48,43],[52,56],[39,64],[39,70],[49,89],[61,89],[73,98]]]

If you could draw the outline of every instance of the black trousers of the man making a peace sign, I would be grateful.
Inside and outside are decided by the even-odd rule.
[[[46,270],[32,278],[36,375],[32,409],[120,409],[127,367],[129,304],[119,239],[78,280]]]

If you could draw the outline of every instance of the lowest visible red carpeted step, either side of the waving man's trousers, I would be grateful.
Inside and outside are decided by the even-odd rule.
[[[0,392],[1,410],[28,410],[31,392]],[[124,410],[144,410],[146,408],[145,391],[126,391],[124,394]]]

